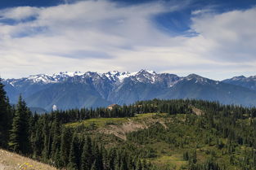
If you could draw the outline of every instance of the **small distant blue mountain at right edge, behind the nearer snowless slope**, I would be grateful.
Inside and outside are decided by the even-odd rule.
[[[249,76],[249,77],[234,76],[233,78],[224,80],[222,82],[228,83],[231,85],[240,85],[256,91],[256,76]]]

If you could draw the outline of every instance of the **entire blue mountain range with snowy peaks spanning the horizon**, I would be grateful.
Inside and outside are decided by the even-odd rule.
[[[29,107],[51,111],[130,104],[152,98],[195,98],[256,106],[256,76],[214,81],[191,74],[177,76],[142,69],[139,72],[60,72],[2,80],[11,103],[19,95]]]

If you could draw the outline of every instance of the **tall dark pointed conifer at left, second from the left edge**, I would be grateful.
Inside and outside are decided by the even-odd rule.
[[[25,101],[19,98],[15,116],[13,118],[9,147],[20,154],[27,155],[30,152],[29,119],[31,112],[26,107]]]

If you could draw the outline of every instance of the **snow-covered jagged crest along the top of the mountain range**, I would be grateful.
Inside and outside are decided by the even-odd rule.
[[[142,69],[139,72],[106,72],[106,73],[97,73],[97,72],[60,72],[58,74],[53,74],[52,76],[47,74],[38,74],[35,76],[24,77],[20,79],[7,79],[4,80],[12,86],[30,83],[30,84],[53,84],[61,83],[66,81],[76,81],[76,82],[85,82],[87,78],[92,78],[92,81],[97,81],[98,79],[103,79],[110,81],[110,83],[123,82],[125,78],[132,78],[132,80],[140,82],[150,82],[155,83],[159,81],[159,76],[176,76],[173,74],[163,73],[157,74],[154,71],[147,71]],[[157,79],[158,78],[158,79]]]

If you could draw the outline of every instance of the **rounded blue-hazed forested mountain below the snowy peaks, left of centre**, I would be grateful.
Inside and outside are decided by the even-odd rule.
[[[89,85],[61,83],[54,84],[25,98],[33,107],[43,107],[47,111],[56,105],[59,109],[81,107],[106,107],[110,102]]]

